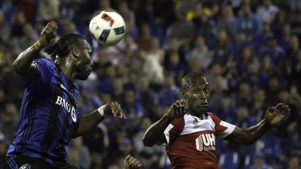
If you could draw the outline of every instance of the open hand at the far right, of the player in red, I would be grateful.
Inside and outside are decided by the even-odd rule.
[[[266,120],[268,123],[275,125],[281,122],[285,117],[290,115],[290,108],[279,103],[276,107],[268,107]]]

